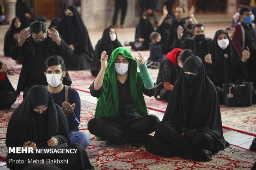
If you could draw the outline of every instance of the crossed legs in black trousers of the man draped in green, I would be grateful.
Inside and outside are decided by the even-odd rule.
[[[97,137],[110,140],[113,144],[122,144],[124,140],[131,139],[130,137],[140,137],[154,132],[158,122],[159,118],[156,115],[146,115],[128,121],[92,118],[88,121],[88,130]]]

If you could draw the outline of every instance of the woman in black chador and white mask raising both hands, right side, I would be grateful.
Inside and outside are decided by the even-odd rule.
[[[206,61],[205,70],[216,86],[220,103],[223,103],[223,84],[244,82],[247,77],[247,62],[242,62],[241,57],[243,59],[244,56],[238,54],[225,30],[216,31],[209,54],[211,62]]]

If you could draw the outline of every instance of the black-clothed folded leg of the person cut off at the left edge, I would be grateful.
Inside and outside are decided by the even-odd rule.
[[[0,109],[9,109],[12,104],[16,101],[17,94],[12,91],[1,91],[0,92]]]

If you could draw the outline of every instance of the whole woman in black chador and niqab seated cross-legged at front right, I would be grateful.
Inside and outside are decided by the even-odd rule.
[[[174,84],[163,121],[146,143],[159,156],[211,161],[211,155],[229,146],[223,137],[215,86],[201,59],[190,56]]]

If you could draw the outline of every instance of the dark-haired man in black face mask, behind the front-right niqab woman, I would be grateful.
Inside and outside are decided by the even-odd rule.
[[[192,27],[192,38],[185,38],[181,42],[181,49],[190,49],[195,56],[199,56],[204,63],[204,58],[208,54],[212,39],[204,37],[204,25],[201,23],[194,24]]]

